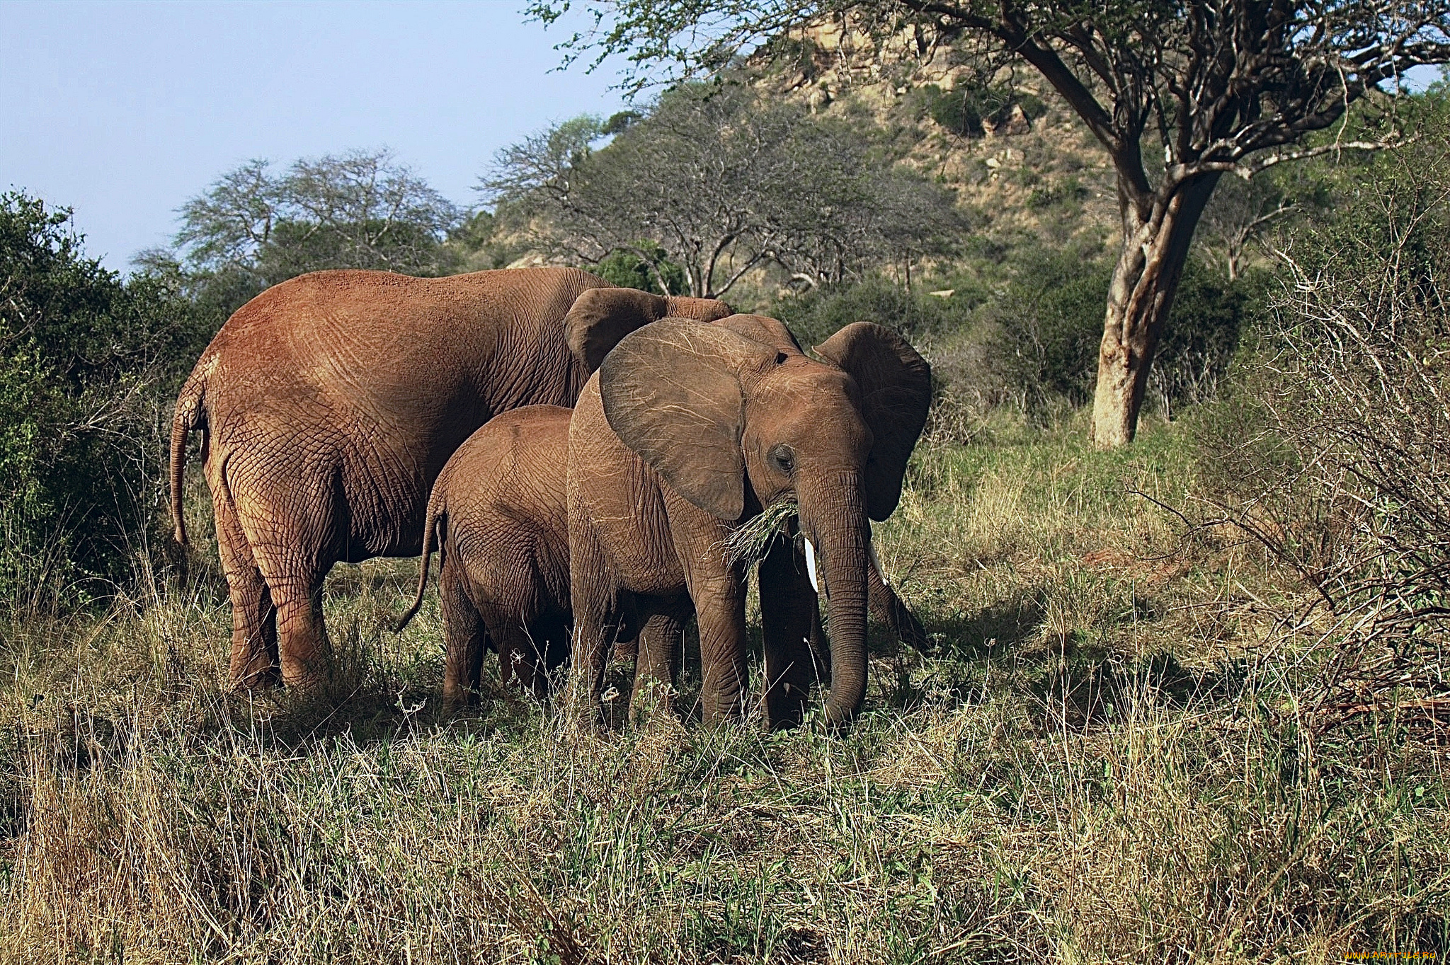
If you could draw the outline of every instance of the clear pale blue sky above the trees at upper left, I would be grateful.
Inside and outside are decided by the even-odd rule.
[[[613,71],[551,72],[567,36],[525,0],[0,0],[0,190],[75,209],[110,268],[248,158],[394,151],[452,201],[493,152],[622,104]]]

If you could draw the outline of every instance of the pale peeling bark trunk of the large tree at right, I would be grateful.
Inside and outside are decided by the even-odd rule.
[[[1124,196],[1122,249],[1108,288],[1092,407],[1092,438],[1099,449],[1125,446],[1138,430],[1153,354],[1183,277],[1193,229],[1217,183],[1212,174],[1183,185],[1147,219]]]

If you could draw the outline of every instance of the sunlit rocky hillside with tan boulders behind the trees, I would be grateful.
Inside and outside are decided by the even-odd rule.
[[[1096,248],[1118,232],[1108,156],[1031,71],[983,67],[970,52],[902,32],[877,49],[829,25],[753,58],[755,83],[812,110],[879,126],[905,164],[954,188],[980,254],[1035,238]],[[915,49],[912,49],[915,45]]]

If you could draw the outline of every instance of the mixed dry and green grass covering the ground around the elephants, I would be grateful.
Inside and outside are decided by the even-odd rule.
[[[998,417],[924,445],[842,738],[596,738],[438,710],[412,561],[328,588],[328,700],[225,693],[225,594],[0,624],[0,961],[1341,961],[1443,949],[1443,748],[1301,727],[1296,593],[1212,535],[1174,426],[1099,454]],[[1179,551],[1179,552],[1170,552]],[[758,630],[758,627],[757,627]]]

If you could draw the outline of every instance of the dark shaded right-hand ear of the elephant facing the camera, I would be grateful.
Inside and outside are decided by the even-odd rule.
[[[861,388],[861,417],[876,436],[866,464],[866,511],[880,522],[902,498],[906,461],[927,425],[931,367],[900,335],[870,322],[845,326],[815,352]]]

